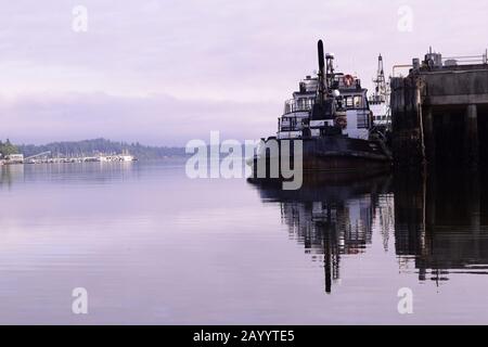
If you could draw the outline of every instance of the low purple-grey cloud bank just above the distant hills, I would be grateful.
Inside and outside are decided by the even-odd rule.
[[[165,94],[114,97],[105,93],[33,94],[0,99],[0,138],[43,143],[104,137],[146,144],[184,145],[222,137],[259,139],[273,132],[278,110],[256,102],[179,100]],[[262,112],[257,115],[256,110]]]

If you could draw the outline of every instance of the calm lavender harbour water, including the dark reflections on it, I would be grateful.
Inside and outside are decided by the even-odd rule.
[[[283,192],[163,164],[3,167],[0,323],[486,324],[488,184],[435,177]]]

